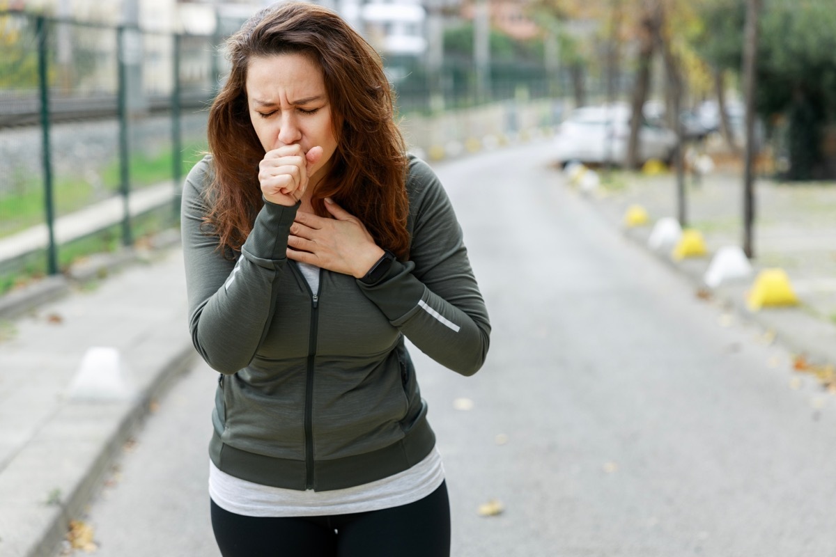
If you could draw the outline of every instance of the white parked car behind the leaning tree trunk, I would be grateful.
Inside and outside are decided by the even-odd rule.
[[[627,104],[587,106],[574,109],[558,128],[555,138],[561,165],[570,162],[623,165],[630,140]],[[676,148],[676,134],[642,118],[639,130],[639,163],[650,159],[670,162]]]

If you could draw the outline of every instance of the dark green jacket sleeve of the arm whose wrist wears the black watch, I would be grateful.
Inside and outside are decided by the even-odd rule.
[[[410,261],[395,261],[365,296],[421,352],[462,375],[487,356],[491,325],[461,226],[441,182],[421,160],[410,161]]]

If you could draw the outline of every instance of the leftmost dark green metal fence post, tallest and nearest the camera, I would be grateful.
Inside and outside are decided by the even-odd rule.
[[[41,132],[43,145],[43,201],[46,209],[47,230],[47,272],[58,274],[58,253],[55,246],[55,207],[52,175],[52,149],[49,144],[49,83],[48,83],[48,40],[47,21],[43,16],[35,20],[38,34],[38,88],[41,96]]]

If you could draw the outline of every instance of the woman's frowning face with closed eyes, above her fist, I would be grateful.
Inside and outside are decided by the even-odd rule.
[[[337,140],[319,64],[301,53],[252,58],[246,87],[250,121],[264,151],[298,144],[307,153],[319,145],[323,154],[308,175],[321,178]]]

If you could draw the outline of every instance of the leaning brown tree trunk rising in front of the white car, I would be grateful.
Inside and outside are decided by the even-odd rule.
[[[632,116],[630,117],[630,138],[627,143],[627,168],[635,169],[640,165],[639,132],[642,111],[650,89],[650,66],[653,63],[656,35],[659,28],[660,5],[656,0],[646,0],[641,16],[639,38],[639,70],[636,72],[633,86]]]

